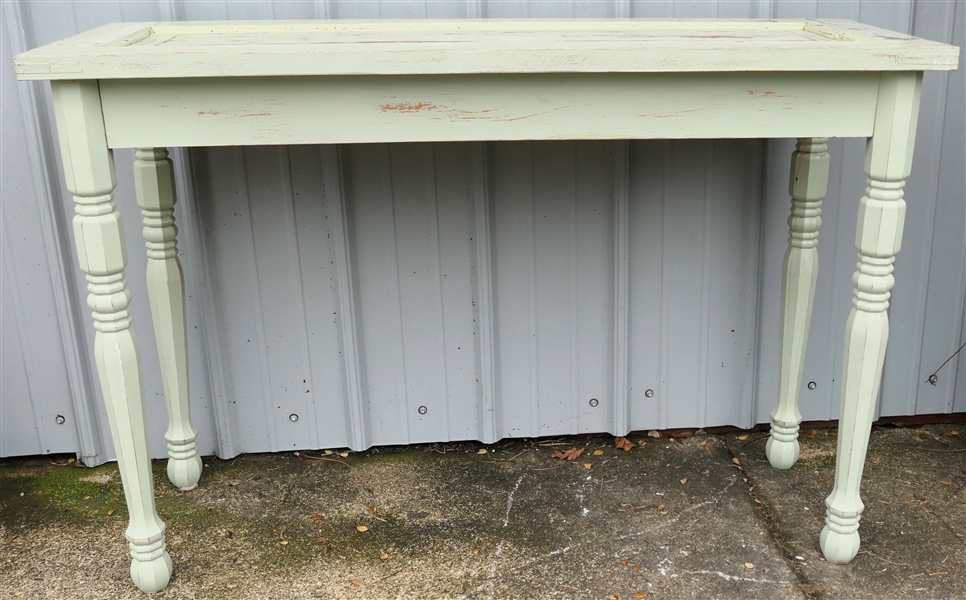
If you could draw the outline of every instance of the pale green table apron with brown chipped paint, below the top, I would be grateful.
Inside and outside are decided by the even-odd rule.
[[[878,72],[102,79],[112,148],[868,137]]]

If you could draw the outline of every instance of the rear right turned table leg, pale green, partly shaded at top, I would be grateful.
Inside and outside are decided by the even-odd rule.
[[[808,326],[812,320],[818,275],[818,229],[828,187],[828,139],[801,138],[792,153],[788,193],[788,250],[782,268],[782,325],[778,405],[771,412],[771,435],[765,455],[771,466],[788,469],[798,460],[798,392],[802,385]]]

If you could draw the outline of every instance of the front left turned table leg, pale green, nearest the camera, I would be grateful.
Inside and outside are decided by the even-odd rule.
[[[67,188],[77,215],[74,238],[87,274],[93,311],[94,358],[104,393],[130,522],[131,579],[145,592],[168,585],[171,557],[154,507],[154,478],[145,432],[141,357],[131,329],[131,292],[121,215],[114,206],[114,157],[107,147],[96,81],[53,81],[51,89]]]

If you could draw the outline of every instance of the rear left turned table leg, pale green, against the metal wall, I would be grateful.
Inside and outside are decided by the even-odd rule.
[[[138,148],[134,186],[144,216],[148,251],[148,296],[161,360],[161,379],[168,407],[168,479],[188,491],[198,486],[201,457],[198,430],[191,423],[188,395],[188,350],[184,319],[184,274],[178,260],[178,228],[174,224],[174,172],[164,148]]]

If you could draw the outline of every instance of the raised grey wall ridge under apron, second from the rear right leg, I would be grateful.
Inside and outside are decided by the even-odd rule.
[[[630,293],[630,152],[627,140],[614,146],[614,380],[611,433],[630,432],[628,396],[630,331],[627,307]]]

